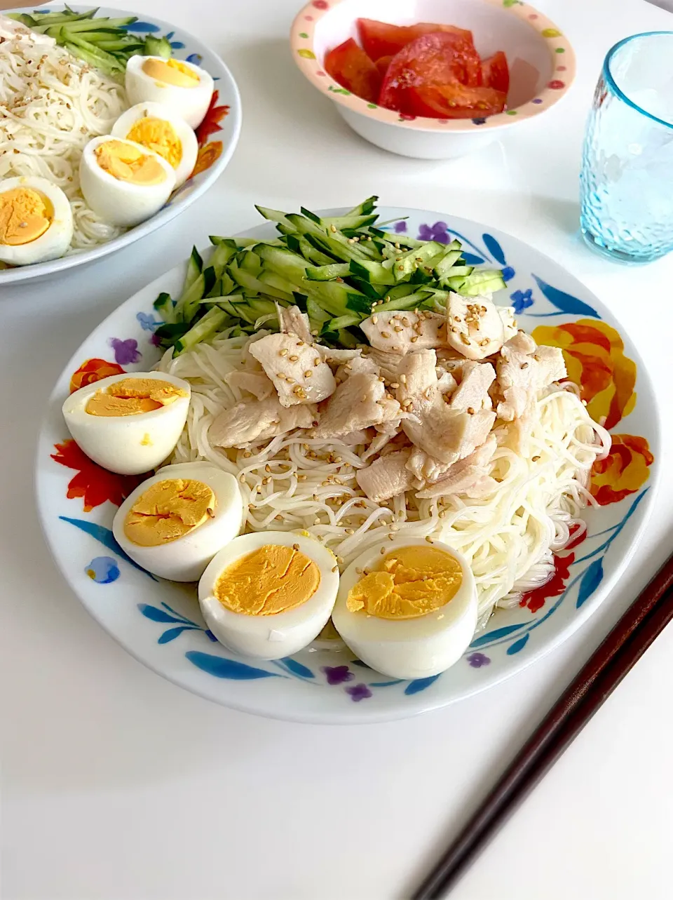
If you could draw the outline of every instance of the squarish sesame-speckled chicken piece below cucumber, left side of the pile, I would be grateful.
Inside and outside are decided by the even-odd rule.
[[[274,383],[281,404],[318,403],[329,397],[337,383],[318,350],[289,334],[268,335],[249,352]]]

